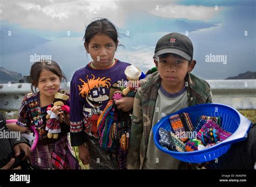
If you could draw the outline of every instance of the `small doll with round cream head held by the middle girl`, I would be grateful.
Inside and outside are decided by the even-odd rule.
[[[130,91],[136,92],[136,90],[139,87],[139,77],[140,75],[142,75],[142,71],[131,65],[131,66],[127,66],[125,71],[124,71],[127,79],[129,80],[129,82],[127,83],[127,87],[123,90],[123,95],[127,96],[127,94]]]

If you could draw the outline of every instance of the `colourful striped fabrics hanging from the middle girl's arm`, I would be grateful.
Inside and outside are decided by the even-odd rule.
[[[99,145],[113,153],[113,160],[118,163],[118,169],[126,169],[130,122],[129,113],[118,110],[113,100],[107,103],[98,119]]]

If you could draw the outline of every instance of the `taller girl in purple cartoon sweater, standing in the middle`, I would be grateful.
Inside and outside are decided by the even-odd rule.
[[[91,169],[118,169],[113,152],[102,149],[97,134],[97,120],[120,82],[129,63],[114,59],[117,51],[116,27],[107,19],[89,24],[85,30],[84,47],[92,62],[75,72],[71,81],[70,134],[71,146],[78,146],[79,157]],[[133,98],[124,97],[115,103],[118,109],[130,111]]]

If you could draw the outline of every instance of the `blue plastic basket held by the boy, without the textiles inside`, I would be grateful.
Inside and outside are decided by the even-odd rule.
[[[159,128],[162,127],[167,131],[172,131],[171,124],[169,121],[170,116],[182,112],[187,112],[189,114],[193,125],[196,125],[199,116],[220,116],[222,127],[226,131],[231,132],[233,134],[226,140],[217,143],[212,147],[203,150],[196,150],[193,152],[174,152],[161,147],[159,143]],[[252,122],[250,120],[242,116],[242,114],[240,114],[237,110],[233,109],[230,106],[223,104],[194,105],[174,112],[169,116],[164,117],[156,125],[154,125],[154,143],[156,143],[156,146],[161,151],[171,155],[172,157],[175,157],[178,160],[190,163],[203,163],[214,160],[219,156],[223,155],[224,153],[226,153],[227,150],[232,145],[232,143],[245,140],[247,137],[246,134],[250,130],[251,125]]]

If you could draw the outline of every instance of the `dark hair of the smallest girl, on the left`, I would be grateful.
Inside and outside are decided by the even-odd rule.
[[[66,77],[57,62],[53,60],[35,62],[30,69],[30,82],[32,92],[36,92],[39,76],[41,75],[43,69],[51,71],[53,74],[57,75],[60,82],[66,80]]]

